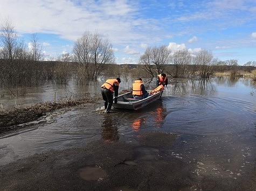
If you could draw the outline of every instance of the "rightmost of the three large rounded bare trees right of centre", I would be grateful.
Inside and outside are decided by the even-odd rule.
[[[199,74],[202,78],[209,78],[213,73],[213,65],[217,63],[217,59],[213,59],[212,53],[207,50],[201,50],[194,58],[194,63],[199,67]]]

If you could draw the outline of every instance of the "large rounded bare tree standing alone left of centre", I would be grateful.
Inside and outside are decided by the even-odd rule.
[[[81,72],[86,78],[96,80],[101,74],[103,64],[115,62],[112,44],[107,39],[100,38],[98,33],[85,32],[81,38],[75,42],[74,61],[80,65]]]

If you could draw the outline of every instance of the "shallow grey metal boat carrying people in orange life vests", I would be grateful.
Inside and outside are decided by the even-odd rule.
[[[134,99],[132,92],[124,93],[117,97],[117,104],[113,103],[113,107],[119,109],[137,110],[159,99],[161,97],[161,93],[162,91],[156,92],[154,94],[149,94],[147,98],[141,100]]]

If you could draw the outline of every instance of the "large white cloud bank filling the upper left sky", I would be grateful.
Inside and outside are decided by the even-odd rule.
[[[56,34],[75,41],[85,31],[97,30],[119,42],[130,36],[136,39],[132,30],[136,9],[127,1],[86,1],[77,5],[68,0],[9,0],[1,1],[0,18],[8,17],[19,33]]]

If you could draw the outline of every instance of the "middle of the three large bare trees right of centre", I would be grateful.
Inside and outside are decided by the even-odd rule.
[[[191,63],[191,56],[186,49],[178,50],[171,56],[172,64],[174,64],[174,71],[171,71],[171,76],[175,78],[184,78],[187,74],[188,65]]]

